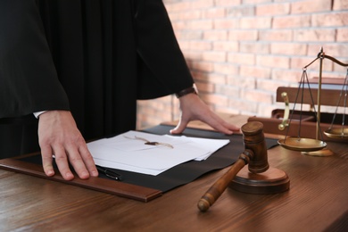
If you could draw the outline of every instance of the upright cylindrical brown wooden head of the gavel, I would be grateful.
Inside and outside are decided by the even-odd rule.
[[[263,135],[263,124],[251,121],[242,126],[244,147],[253,152],[248,169],[253,173],[261,173],[269,169],[267,145]]]

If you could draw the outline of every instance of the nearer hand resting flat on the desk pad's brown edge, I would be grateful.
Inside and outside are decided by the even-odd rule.
[[[79,178],[98,176],[93,157],[70,112],[48,111],[42,113],[38,120],[38,143],[41,147],[42,163],[47,176],[54,176],[53,154],[62,178],[66,180],[74,178],[69,168],[69,162],[78,173]]]

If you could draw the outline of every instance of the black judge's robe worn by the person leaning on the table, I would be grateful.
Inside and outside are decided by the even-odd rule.
[[[104,137],[135,128],[137,99],[192,84],[162,0],[0,1],[0,151],[37,145],[32,112]]]

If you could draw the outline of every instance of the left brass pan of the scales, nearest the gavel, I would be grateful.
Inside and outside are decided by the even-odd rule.
[[[323,141],[302,137],[289,137],[286,139],[279,139],[278,144],[286,149],[299,152],[319,151],[327,146],[327,143]]]

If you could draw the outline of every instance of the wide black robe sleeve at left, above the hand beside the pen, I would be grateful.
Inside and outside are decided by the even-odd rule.
[[[35,0],[0,1],[0,118],[69,110]]]

